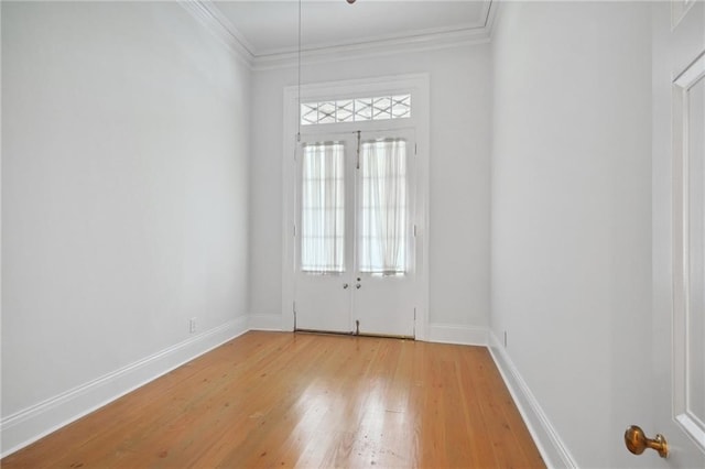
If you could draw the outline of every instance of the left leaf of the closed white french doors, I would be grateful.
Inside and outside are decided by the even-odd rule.
[[[351,330],[355,174],[350,134],[308,135],[296,156],[295,329]]]

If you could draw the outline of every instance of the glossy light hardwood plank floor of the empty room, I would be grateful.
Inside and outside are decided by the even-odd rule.
[[[254,331],[0,465],[545,467],[485,348]]]

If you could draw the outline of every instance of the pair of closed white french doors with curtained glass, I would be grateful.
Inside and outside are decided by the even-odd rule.
[[[414,336],[414,155],[412,130],[302,135],[297,330]]]

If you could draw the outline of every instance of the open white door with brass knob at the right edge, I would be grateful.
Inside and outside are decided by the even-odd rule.
[[[653,422],[659,465],[705,467],[705,4],[653,6]],[[644,428],[647,430],[647,428]],[[655,439],[654,435],[648,435]],[[640,448],[658,446],[634,437]],[[654,465],[648,451],[642,461]],[[665,455],[665,451],[663,451]],[[655,458],[655,460],[654,460]]]

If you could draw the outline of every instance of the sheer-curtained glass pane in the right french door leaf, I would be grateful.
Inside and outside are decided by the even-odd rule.
[[[360,148],[360,272],[403,274],[408,270],[409,195],[406,142],[388,139]]]

